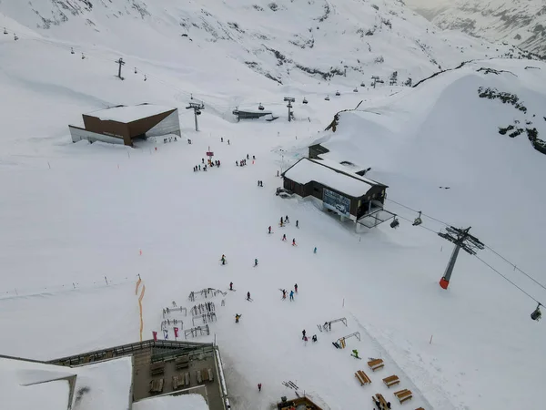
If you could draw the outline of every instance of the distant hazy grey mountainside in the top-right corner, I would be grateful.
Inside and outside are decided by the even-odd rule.
[[[444,29],[519,46],[546,56],[546,5],[542,0],[453,0],[413,4]]]

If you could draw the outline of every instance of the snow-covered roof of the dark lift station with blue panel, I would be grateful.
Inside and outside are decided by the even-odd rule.
[[[300,159],[291,168],[287,169],[283,175],[302,185],[314,180],[354,198],[361,197],[372,186],[378,185],[377,182],[371,180],[368,182],[359,175],[349,175],[347,170],[331,169],[326,164],[321,164],[319,159]]]

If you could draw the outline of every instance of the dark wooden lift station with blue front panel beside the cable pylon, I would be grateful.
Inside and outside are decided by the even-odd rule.
[[[299,159],[282,177],[285,189],[313,196],[325,209],[355,221],[382,210],[388,188],[327,159]]]

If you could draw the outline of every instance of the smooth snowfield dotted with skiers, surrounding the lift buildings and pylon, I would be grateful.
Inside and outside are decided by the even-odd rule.
[[[531,120],[546,134],[546,65],[480,60],[416,88],[362,87],[354,93],[355,78],[327,90],[301,78],[270,85],[251,71],[237,84],[228,75],[199,77],[197,69],[205,66],[198,58],[181,79],[172,74],[181,60],[167,68],[156,50],[156,60],[139,57],[139,67],[151,74],[147,82],[132,78],[131,70],[121,82],[113,76],[114,63],[105,63],[116,52],[96,51],[104,59],[90,55],[82,64],[66,44],[25,38],[24,31],[20,36],[17,43],[0,38],[2,60],[8,61],[0,84],[10,96],[0,102],[1,354],[46,360],[135,342],[140,275],[145,339],[154,331],[163,335],[162,310],[173,301],[189,311],[201,302],[188,301],[189,292],[227,292],[212,299],[217,321],[208,323],[210,335],[190,340],[216,338],[232,408],[268,409],[282,395],[294,396],[283,384],[288,381],[332,410],[371,407],[376,393],[392,408],[540,403],[546,331],[529,318],[536,303],[482,261],[539,301],[546,292],[489,249],[478,254],[482,261],[461,253],[449,290],[440,289],[452,248],[437,232],[445,228],[438,220],[471,226],[492,250],[546,280],[546,157],[524,134],[498,133],[517,119]],[[480,67],[510,73],[484,74]],[[423,77],[433,72],[423,71]],[[167,80],[159,83],[154,75]],[[191,87],[190,79],[196,80]],[[205,108],[199,132],[192,128],[193,114],[183,109],[186,91],[180,91],[194,87],[217,107]],[[528,112],[480,98],[478,87],[515,93]],[[296,121],[288,123],[284,104],[273,106],[279,118],[271,123],[227,120],[232,106],[222,110],[219,101],[232,95],[256,106],[266,100],[262,90],[268,100],[296,97]],[[308,105],[301,104],[303,97]],[[141,102],[178,107],[183,138],[149,140],[135,149],[70,141],[66,126],[82,113]],[[358,105],[340,114],[336,133],[324,131],[334,114]],[[330,149],[325,158],[371,167],[367,176],[389,186],[385,206],[399,215],[397,230],[385,223],[356,233],[313,200],[275,196],[282,185],[278,171],[307,155],[317,140]],[[192,171],[209,149],[221,167]],[[236,166],[247,155],[248,165]],[[423,216],[423,226],[413,227],[413,210],[437,220]],[[281,228],[278,220],[286,215],[290,223]],[[229,282],[237,292],[228,292]],[[283,301],[279,288],[289,292],[295,283],[295,300]],[[333,323],[331,332],[319,331],[318,324],[341,317],[347,326]],[[345,349],[332,345],[357,332],[360,340],[347,339]],[[362,360],[350,356],[353,349]],[[385,366],[372,372],[369,358]],[[358,370],[372,383],[361,386]],[[400,389],[413,393],[409,402],[399,405],[392,395],[397,387],[382,383],[391,374],[399,376]]]

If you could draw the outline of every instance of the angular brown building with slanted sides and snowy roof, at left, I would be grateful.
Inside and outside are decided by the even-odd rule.
[[[178,109],[140,104],[116,106],[84,114],[84,128],[68,126],[72,142],[86,139],[133,146],[133,141],[164,135],[180,136]]]

